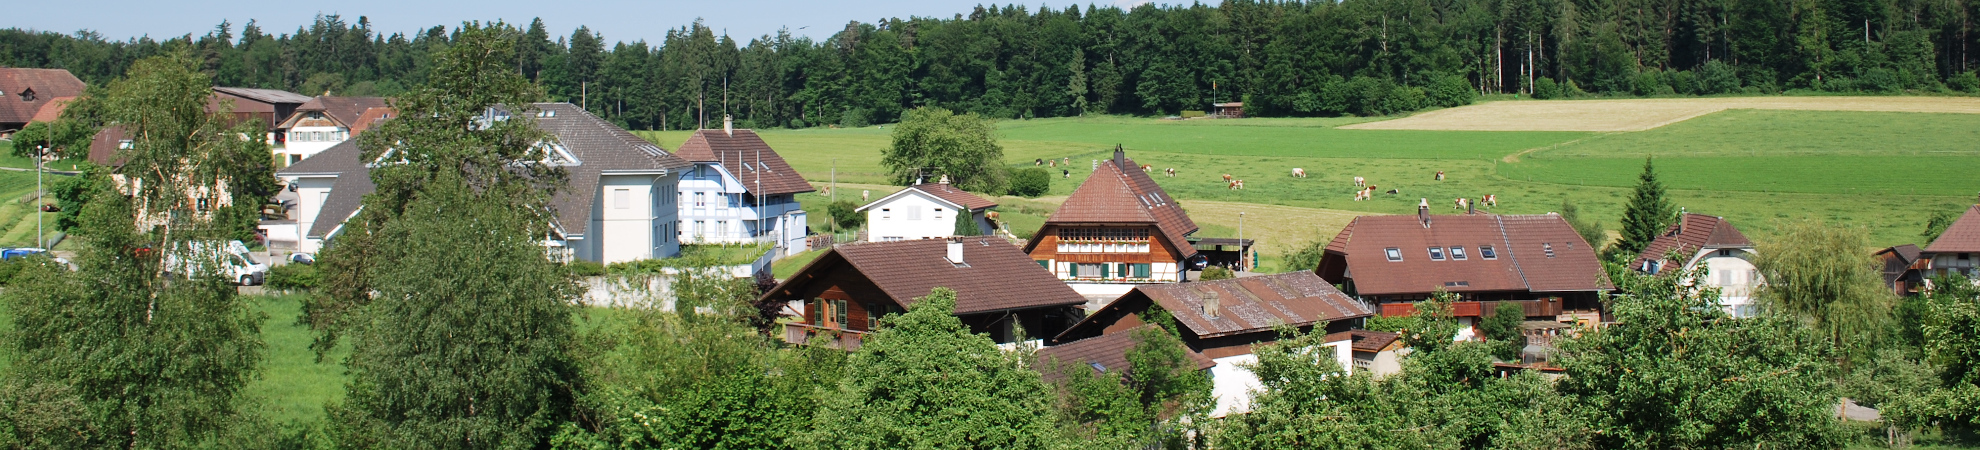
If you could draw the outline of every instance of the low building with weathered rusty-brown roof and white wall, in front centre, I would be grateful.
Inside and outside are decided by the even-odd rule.
[[[1051,343],[1127,333],[1148,325],[1150,317],[1162,317],[1162,311],[1174,319],[1190,351],[1216,361],[1210,379],[1216,385],[1218,414],[1247,410],[1249,391],[1259,389],[1259,381],[1243,365],[1257,361],[1253,345],[1279,339],[1279,325],[1303,333],[1342,333],[1374,315],[1368,303],[1340,293],[1313,272],[1144,283],[1055,335]],[[1325,329],[1315,331],[1321,323]],[[1350,339],[1329,345],[1342,369],[1354,367],[1350,345]]]

